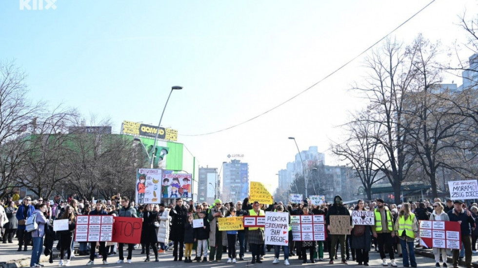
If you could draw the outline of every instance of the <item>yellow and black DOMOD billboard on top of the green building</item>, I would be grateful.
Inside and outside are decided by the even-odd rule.
[[[121,126],[121,133],[132,136],[142,136],[148,138],[155,138],[158,127],[152,125],[146,125],[137,122],[123,121]],[[178,131],[174,129],[159,128],[159,139],[177,141]]]

